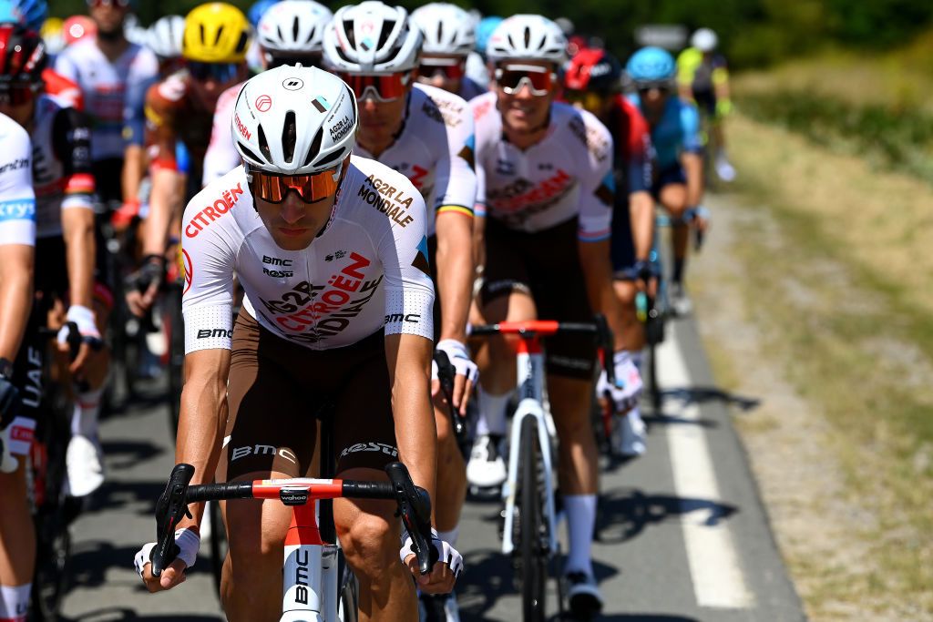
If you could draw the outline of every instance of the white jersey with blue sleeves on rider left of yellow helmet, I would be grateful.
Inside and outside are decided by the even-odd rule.
[[[77,82],[84,93],[84,111],[91,117],[91,159],[122,158],[127,145],[124,127],[142,115],[142,111],[129,109],[126,94],[156,79],[156,55],[148,48],[130,44],[116,61],[110,62],[97,47],[96,39],[88,37],[58,55],[55,71]]]

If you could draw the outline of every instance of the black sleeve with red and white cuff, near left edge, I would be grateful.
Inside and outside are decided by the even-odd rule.
[[[74,108],[62,108],[52,120],[52,150],[62,163],[62,209],[94,207],[94,175],[91,173],[91,125]]]

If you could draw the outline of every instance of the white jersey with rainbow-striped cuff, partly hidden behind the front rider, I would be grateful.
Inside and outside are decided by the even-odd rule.
[[[411,89],[396,141],[378,160],[404,174],[435,214],[473,214],[476,173],[473,171],[473,115],[461,97],[424,84]],[[358,142],[354,153],[373,158]],[[434,217],[428,218],[434,235]]]

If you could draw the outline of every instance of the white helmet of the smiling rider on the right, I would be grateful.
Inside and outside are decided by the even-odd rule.
[[[567,60],[567,38],[553,21],[541,15],[513,15],[495,27],[486,44],[490,62]]]

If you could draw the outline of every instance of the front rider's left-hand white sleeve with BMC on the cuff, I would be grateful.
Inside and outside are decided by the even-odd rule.
[[[182,229],[188,230],[200,213],[203,192],[188,203]],[[193,237],[182,237],[185,288],[182,315],[185,318],[185,353],[199,350],[230,350],[233,337],[234,241],[226,229],[215,225],[198,228]]]

